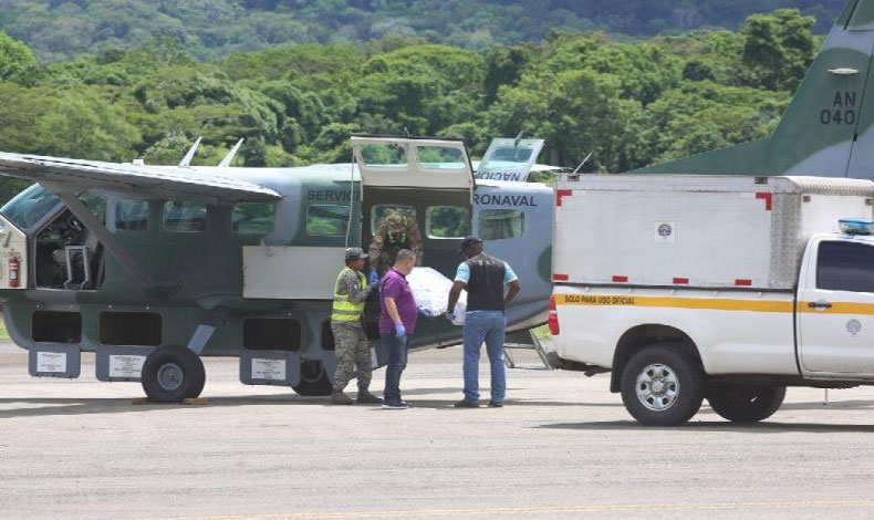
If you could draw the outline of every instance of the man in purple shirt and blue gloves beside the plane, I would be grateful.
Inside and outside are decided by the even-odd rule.
[[[418,316],[416,300],[407,282],[407,274],[415,266],[416,254],[402,249],[394,267],[383,277],[379,289],[379,337],[388,346],[383,408],[409,408],[409,403],[400,399],[400,373],[407,366],[407,346]]]

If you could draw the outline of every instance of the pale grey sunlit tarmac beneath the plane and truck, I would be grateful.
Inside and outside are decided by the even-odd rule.
[[[523,353],[507,406],[454,409],[460,349],[412,354],[408,410],[243,386],[208,358],[204,405],[142,388],[35,379],[0,344],[2,520],[822,519],[874,513],[873,388],[790,388],[753,426],[706,406],[634,423],[608,377]],[[384,370],[375,373],[382,389]],[[488,365],[481,382],[488,386]],[[354,383],[353,383],[354,385]],[[488,398],[488,392],[483,399]]]

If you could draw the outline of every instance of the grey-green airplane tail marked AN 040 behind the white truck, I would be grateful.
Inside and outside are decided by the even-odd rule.
[[[635,170],[874,179],[874,0],[850,0],[764,139]]]

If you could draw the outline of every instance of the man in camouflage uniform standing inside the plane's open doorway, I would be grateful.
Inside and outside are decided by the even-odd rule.
[[[422,233],[415,217],[408,217],[400,211],[392,211],[382,219],[373,233],[371,242],[371,282],[378,281],[395,263],[397,252],[409,249],[416,256],[416,264],[422,266],[424,251],[422,248]]]

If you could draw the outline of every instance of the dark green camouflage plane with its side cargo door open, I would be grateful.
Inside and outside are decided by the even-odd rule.
[[[240,358],[250,385],[327,395],[330,314],[346,247],[367,250],[388,214],[418,228],[423,264],[454,277],[464,236],[523,284],[511,331],[545,322],[552,189],[523,180],[542,141],[497,145],[476,178],[462,143],[353,137],[354,160],[302,168],[111,164],[0,153],[0,175],[35,181],[0,208],[0,302],[31,375],[141,382],[157,402],[197,397],[202,356]],[[488,159],[491,159],[490,162]],[[506,175],[502,171],[508,171]],[[488,175],[487,175],[488,174]],[[375,364],[378,295],[365,309]],[[458,344],[423,318],[412,346]]]

